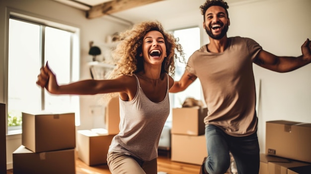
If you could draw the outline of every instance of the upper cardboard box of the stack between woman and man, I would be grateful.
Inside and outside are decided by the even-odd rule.
[[[205,116],[207,116],[207,108],[173,108],[171,133],[203,135],[205,133]]]

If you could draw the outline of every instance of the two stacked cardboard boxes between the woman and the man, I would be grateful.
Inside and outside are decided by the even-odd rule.
[[[171,160],[201,165],[207,157],[204,117],[207,108],[174,108],[171,128]]]

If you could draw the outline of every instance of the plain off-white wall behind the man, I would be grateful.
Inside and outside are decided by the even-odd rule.
[[[228,0],[229,1],[229,0]],[[246,0],[229,3],[228,36],[249,37],[277,56],[300,56],[301,45],[311,39],[311,0]],[[165,28],[200,26],[202,45],[209,43],[200,11],[161,21]],[[311,123],[311,64],[288,73],[253,65],[261,81],[258,138],[265,153],[265,122],[292,120]],[[259,96],[257,96],[259,97]]]

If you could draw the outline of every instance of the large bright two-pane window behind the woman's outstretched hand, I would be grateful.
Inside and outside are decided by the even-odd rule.
[[[59,84],[78,80],[78,31],[48,21],[11,15],[8,36],[8,134],[21,133],[22,112],[75,112],[78,96],[53,96],[36,85],[40,67],[49,62]]]

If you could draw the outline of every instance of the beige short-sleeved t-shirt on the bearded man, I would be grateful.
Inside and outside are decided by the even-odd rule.
[[[204,123],[221,127],[232,136],[256,131],[256,92],[252,63],[262,50],[249,38],[229,38],[223,53],[210,53],[206,45],[194,52],[187,69],[202,85],[208,113]]]

